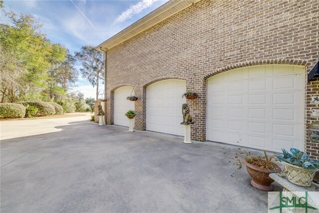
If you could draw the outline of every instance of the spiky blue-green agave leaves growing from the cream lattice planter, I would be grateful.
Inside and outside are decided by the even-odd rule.
[[[302,167],[305,169],[312,170],[313,172],[319,171],[319,161],[314,161],[310,159],[310,155],[306,155],[304,152],[301,152],[299,149],[291,148],[290,152],[287,152],[285,149],[282,149],[283,155],[275,155],[278,160]]]

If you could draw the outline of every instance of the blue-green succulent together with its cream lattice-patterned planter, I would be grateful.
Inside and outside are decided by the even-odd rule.
[[[283,156],[276,155],[276,158],[285,166],[288,181],[301,187],[310,187],[315,173],[319,171],[319,161],[310,159],[310,155],[299,149],[291,148],[291,154],[285,149],[282,151]]]

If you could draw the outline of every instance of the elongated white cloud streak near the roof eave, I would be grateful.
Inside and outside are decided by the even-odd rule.
[[[138,14],[144,9],[152,6],[156,1],[157,0],[141,0],[137,4],[131,5],[115,19],[115,23],[121,23],[132,18],[133,15]]]

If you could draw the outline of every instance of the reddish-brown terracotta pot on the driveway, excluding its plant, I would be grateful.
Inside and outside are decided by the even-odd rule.
[[[273,183],[274,180],[269,177],[269,174],[280,173],[281,169],[279,166],[276,165],[276,168],[273,170],[261,169],[247,162],[245,162],[245,166],[248,174],[253,179],[250,182],[253,187],[263,191],[273,191],[274,188],[271,186],[271,183]]]

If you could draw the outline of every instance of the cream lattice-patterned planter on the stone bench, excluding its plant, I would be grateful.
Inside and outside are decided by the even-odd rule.
[[[311,183],[315,176],[314,172],[302,167],[288,164],[283,161],[281,163],[285,166],[287,178],[290,183],[301,187],[311,186]]]

